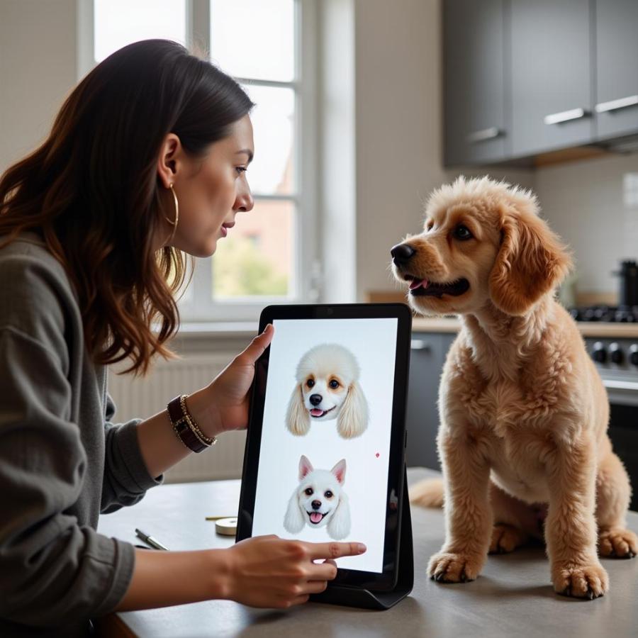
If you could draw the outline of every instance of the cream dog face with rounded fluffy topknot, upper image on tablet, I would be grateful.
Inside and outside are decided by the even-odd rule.
[[[297,384],[286,414],[286,426],[296,436],[310,424],[337,420],[337,432],[352,439],[368,427],[368,403],[359,386],[359,364],[354,354],[335,343],[313,347],[297,365]]]

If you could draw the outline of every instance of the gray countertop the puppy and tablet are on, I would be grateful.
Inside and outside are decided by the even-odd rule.
[[[437,472],[408,470],[408,482]],[[130,542],[135,527],[169,549],[229,547],[205,515],[235,515],[240,481],[180,483],[152,489],[134,508],[101,517],[100,532]],[[413,508],[415,584],[408,598],[388,611],[307,603],[285,612],[255,610],[225,600],[125,612],[118,620],[140,637],[542,637],[623,638],[638,632],[638,559],[603,559],[610,592],[596,600],[556,595],[542,547],[490,556],[472,583],[441,585],[427,578],[427,559],[444,536],[440,510]],[[629,513],[638,532],[638,514]]]

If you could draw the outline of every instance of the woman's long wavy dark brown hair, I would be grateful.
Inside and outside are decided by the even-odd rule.
[[[179,326],[184,254],[155,251],[172,199],[157,178],[168,133],[203,155],[253,104],[232,78],[168,40],[128,45],[69,95],[47,140],[0,178],[0,247],[34,230],[79,296],[94,361],[145,374]],[[6,239],[6,240],[5,240]],[[153,324],[157,323],[157,332]]]

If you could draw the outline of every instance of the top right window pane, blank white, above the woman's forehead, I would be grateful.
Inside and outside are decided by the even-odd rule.
[[[235,77],[291,82],[293,0],[211,0],[211,56]]]

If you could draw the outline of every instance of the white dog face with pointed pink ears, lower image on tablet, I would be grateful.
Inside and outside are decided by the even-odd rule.
[[[314,469],[302,455],[299,460],[299,485],[288,503],[284,527],[291,534],[298,534],[304,525],[326,527],[328,536],[335,540],[350,533],[350,508],[343,491],[345,483],[345,459],[341,459],[330,471]]]

